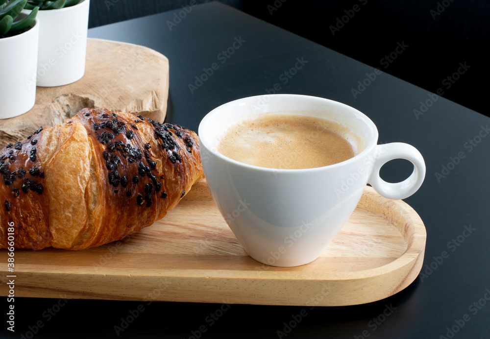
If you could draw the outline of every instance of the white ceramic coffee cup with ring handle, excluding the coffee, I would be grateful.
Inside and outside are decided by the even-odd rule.
[[[217,151],[219,131],[248,115],[310,115],[341,123],[364,150],[338,164],[275,170],[240,163]],[[378,131],[363,113],[343,103],[302,95],[245,97],[208,113],[199,124],[204,174],[220,212],[253,259],[299,266],[317,259],[356,208],[366,184],[390,199],[414,194],[425,177],[420,152],[403,143],[377,145]],[[390,160],[406,159],[413,173],[399,183],[380,178]]]

